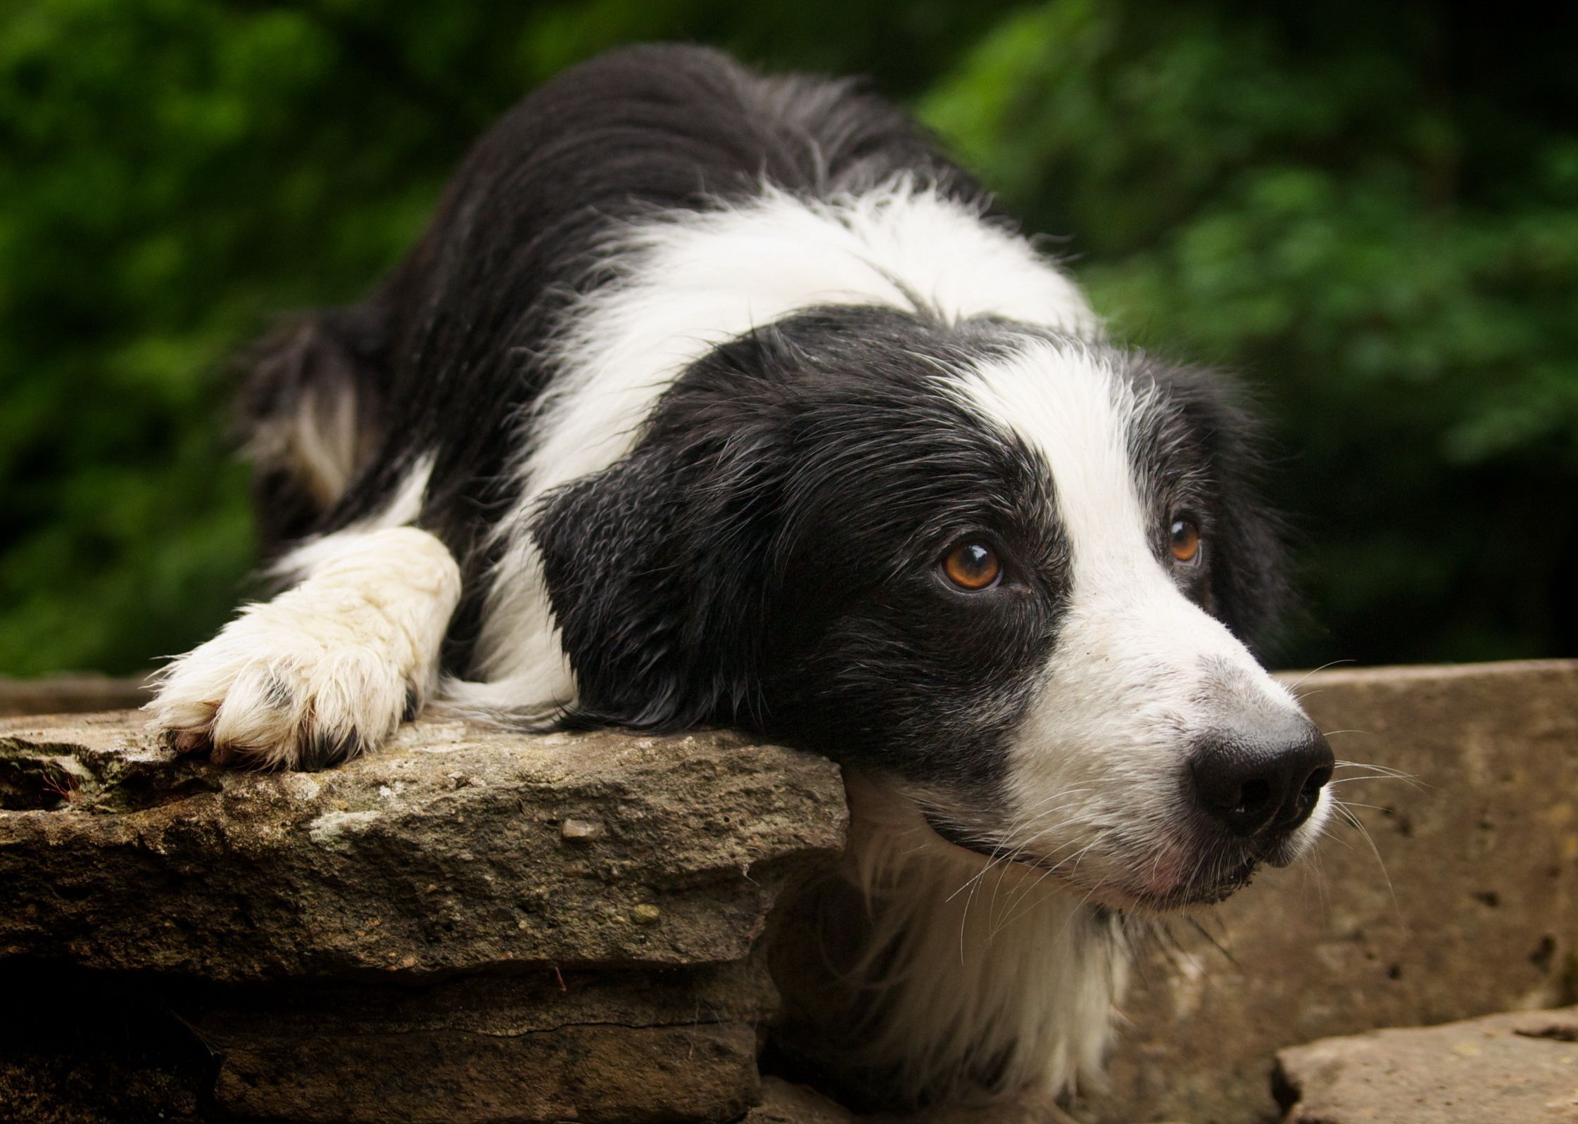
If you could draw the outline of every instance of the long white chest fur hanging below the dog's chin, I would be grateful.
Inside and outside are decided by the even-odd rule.
[[[871,903],[854,979],[874,996],[862,1061],[896,1069],[911,1096],[959,1099],[1100,1080],[1127,949],[1097,938],[1087,910],[1045,872],[988,865],[945,843],[890,785],[847,776],[851,878]],[[937,1088],[989,1070],[991,1088]]]

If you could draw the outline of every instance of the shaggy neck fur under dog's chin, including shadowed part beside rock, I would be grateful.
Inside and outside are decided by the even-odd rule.
[[[881,1075],[839,1089],[874,1102],[1100,1081],[1127,979],[1117,921],[1043,872],[944,842],[879,782],[849,774],[847,788],[838,875],[789,906],[773,951],[787,1053]]]

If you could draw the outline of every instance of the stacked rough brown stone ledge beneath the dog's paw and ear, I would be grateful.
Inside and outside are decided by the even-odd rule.
[[[836,766],[727,733],[418,722],[260,776],[134,713],[0,722],[0,993],[38,1020],[0,1028],[0,1118],[62,1124],[735,1121],[757,936],[846,823]],[[79,1045],[104,1023],[159,1048]]]

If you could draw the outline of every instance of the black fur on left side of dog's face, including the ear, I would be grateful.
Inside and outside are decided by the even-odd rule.
[[[573,720],[742,725],[983,780],[1019,672],[1051,645],[1065,545],[1038,462],[983,429],[939,366],[1011,341],[839,307],[691,367],[636,451],[560,489],[537,525]],[[959,528],[989,534],[1015,580],[948,586],[937,560]]]

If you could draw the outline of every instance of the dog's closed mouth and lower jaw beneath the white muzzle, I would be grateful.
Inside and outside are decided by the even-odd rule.
[[[1166,911],[1195,905],[1215,905],[1248,886],[1261,864],[1284,867],[1296,858],[1288,836],[1258,847],[1226,843],[1202,837],[1191,845],[1172,843],[1131,864],[1124,876],[1092,881],[1081,876],[1079,864],[1051,861],[1023,848],[966,834],[940,818],[925,813],[926,824],[947,843],[1010,867],[1057,878],[1092,902],[1119,910]],[[1127,850],[1127,848],[1125,848]],[[1141,848],[1133,848],[1144,854]]]

